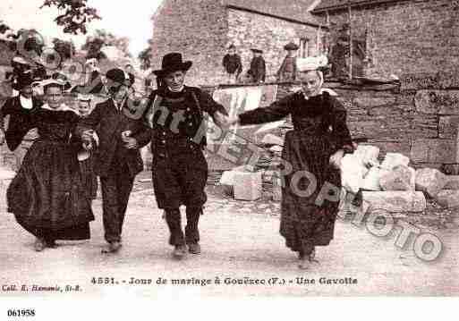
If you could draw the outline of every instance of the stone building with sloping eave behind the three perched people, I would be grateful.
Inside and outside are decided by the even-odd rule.
[[[222,59],[230,44],[237,46],[243,72],[252,47],[264,51],[268,79],[280,67],[290,41],[300,55],[321,50],[324,25],[310,14],[317,0],[165,0],[153,16],[152,66],[159,67],[167,52],[182,52],[194,63],[188,82],[220,83]],[[319,39],[319,41],[318,41]]]

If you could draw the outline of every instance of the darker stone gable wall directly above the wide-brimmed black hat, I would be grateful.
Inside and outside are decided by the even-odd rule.
[[[214,0],[166,0],[153,23],[153,69],[159,69],[163,55],[181,52],[193,62],[190,85],[221,82],[228,30],[225,7]]]

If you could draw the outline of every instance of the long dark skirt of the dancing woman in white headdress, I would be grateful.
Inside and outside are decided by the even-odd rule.
[[[280,233],[293,251],[310,253],[333,239],[341,190],[339,169],[329,164],[333,145],[305,131],[285,135]]]

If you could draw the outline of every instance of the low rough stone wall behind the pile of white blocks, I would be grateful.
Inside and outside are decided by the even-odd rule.
[[[325,87],[334,89],[344,104],[353,139],[368,139],[368,144],[380,148],[381,158],[399,152],[416,168],[442,169],[459,164],[459,87],[455,81],[446,86],[441,81],[445,77],[427,81],[411,77],[401,84],[378,86],[327,82]],[[277,98],[288,95],[291,88],[279,85]],[[283,137],[289,127],[269,133]]]

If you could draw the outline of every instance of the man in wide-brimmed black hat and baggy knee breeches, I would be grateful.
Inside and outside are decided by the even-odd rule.
[[[200,253],[198,222],[207,201],[204,191],[208,164],[203,154],[206,145],[207,113],[218,125],[224,122],[225,107],[204,91],[184,86],[191,62],[179,53],[163,57],[157,76],[157,90],[149,97],[147,120],[152,127],[153,188],[157,207],[166,213],[169,243],[174,257],[188,251]],[[179,207],[186,207],[187,224],[183,233]]]

